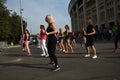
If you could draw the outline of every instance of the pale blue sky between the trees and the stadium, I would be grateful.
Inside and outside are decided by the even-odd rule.
[[[71,19],[68,13],[70,0],[22,0],[23,18],[28,22],[31,33],[39,33],[39,25],[47,27],[45,16],[51,14],[56,21],[57,30],[68,24],[71,27]],[[6,6],[20,14],[20,0],[7,0]]]

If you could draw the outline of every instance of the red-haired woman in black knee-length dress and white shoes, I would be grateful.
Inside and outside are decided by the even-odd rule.
[[[86,49],[87,49],[87,54],[85,55],[85,57],[90,57],[90,47],[92,47],[92,50],[94,52],[94,56],[92,57],[93,59],[97,58],[96,55],[96,48],[94,46],[94,34],[96,33],[94,27],[93,27],[93,21],[91,19],[88,19],[87,21],[87,28],[85,30],[85,28],[83,28],[84,31],[84,35],[86,36]]]

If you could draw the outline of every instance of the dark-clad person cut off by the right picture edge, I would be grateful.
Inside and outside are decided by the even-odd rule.
[[[114,40],[114,45],[115,45],[114,53],[118,53],[119,40],[120,40],[120,19],[117,20],[117,31],[115,32],[115,40]]]

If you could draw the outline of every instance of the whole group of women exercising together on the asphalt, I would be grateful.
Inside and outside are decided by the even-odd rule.
[[[53,71],[60,70],[60,66],[58,64],[57,56],[55,55],[55,50],[58,49],[63,53],[71,53],[74,54],[74,46],[76,46],[76,38],[78,37],[74,31],[70,31],[69,26],[65,25],[65,31],[62,28],[57,31],[56,24],[53,16],[47,15],[45,17],[45,21],[48,23],[48,27],[45,29],[44,25],[40,25],[40,33],[37,34],[38,39],[38,48],[42,48],[41,56],[49,57],[49,64],[54,65]],[[96,29],[93,26],[93,21],[91,19],[87,20],[87,26],[82,27],[80,30],[80,40],[81,47],[86,48],[86,55],[84,57],[91,57],[90,47],[93,50],[93,59],[96,59],[97,51],[94,45],[95,42],[95,34]],[[31,55],[31,51],[29,48],[29,39],[30,33],[26,29],[24,34],[21,36],[22,48],[23,51],[26,51],[28,55]],[[115,33],[115,53],[118,53],[118,41],[120,40],[120,20],[117,21],[117,31]],[[41,43],[41,44],[40,44]],[[47,46],[46,46],[47,45]],[[52,45],[52,46],[51,46]]]

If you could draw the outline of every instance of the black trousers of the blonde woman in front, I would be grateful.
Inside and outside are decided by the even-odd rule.
[[[58,60],[57,60],[57,57],[55,55],[56,44],[57,44],[56,37],[48,38],[48,54],[49,54],[51,62],[55,63],[55,66],[58,65]]]

